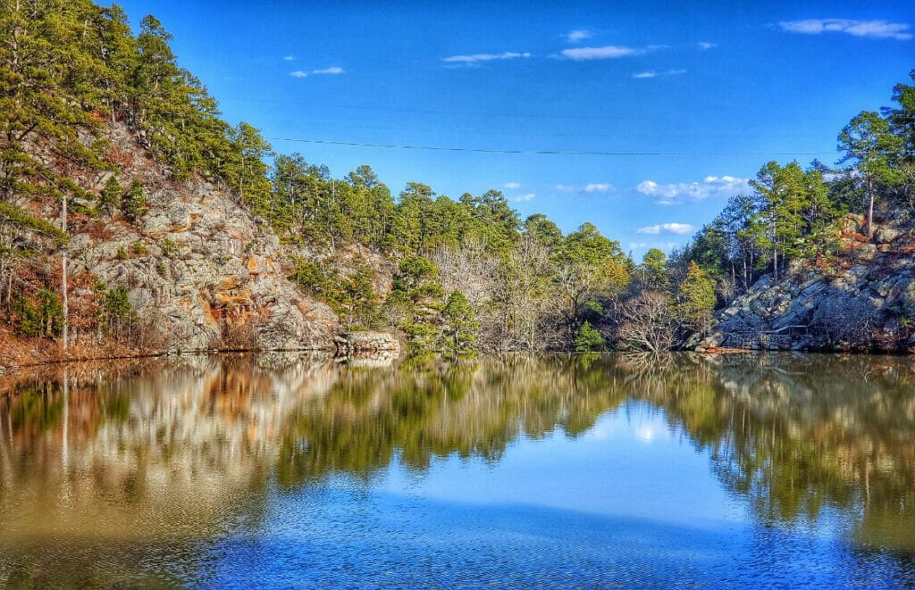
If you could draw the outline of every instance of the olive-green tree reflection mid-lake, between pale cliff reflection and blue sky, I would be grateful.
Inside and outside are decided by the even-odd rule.
[[[575,436],[623,399],[608,386],[605,365],[515,356],[350,371],[301,408],[284,439],[278,479],[288,486],[335,471],[369,477],[396,452],[413,469],[451,454],[497,460],[522,436],[544,437],[556,427]]]

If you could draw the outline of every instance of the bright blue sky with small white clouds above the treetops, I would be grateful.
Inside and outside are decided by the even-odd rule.
[[[498,188],[636,258],[683,244],[771,159],[834,163],[845,123],[915,68],[908,0],[121,4],[278,153],[338,178],[370,164],[394,195]]]

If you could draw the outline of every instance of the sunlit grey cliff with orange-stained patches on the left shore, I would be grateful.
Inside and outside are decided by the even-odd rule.
[[[142,153],[120,131],[124,149]],[[230,195],[200,179],[172,183],[148,158],[119,177],[143,184],[148,211],[134,224],[84,221],[70,240],[70,272],[126,286],[151,348],[334,350],[336,315],[285,279],[279,240]]]

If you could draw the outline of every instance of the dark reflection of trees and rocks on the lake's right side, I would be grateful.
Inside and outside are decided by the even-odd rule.
[[[915,549],[915,363],[892,357],[623,361],[767,521],[854,508],[863,541]]]

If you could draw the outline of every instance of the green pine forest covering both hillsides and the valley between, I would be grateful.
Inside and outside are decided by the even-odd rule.
[[[368,165],[335,178],[274,153],[252,124],[221,119],[154,16],[134,35],[118,5],[3,0],[0,37],[0,321],[18,339],[66,342],[73,325],[129,339],[143,325],[124,285],[67,277],[81,220],[145,215],[144,186],[119,178],[142,157],[117,149],[119,125],[170,181],[206,179],[272,227],[288,279],[347,330],[395,332],[413,353],[449,357],[677,349],[760,277],[842,256],[849,214],[870,238],[915,206],[906,83],[891,90],[893,106],[839,131],[838,162],[763,163],[752,192],[686,247],[635,260],[592,224],[564,234],[546,216],[522,219],[498,190],[452,198],[415,182],[394,195]],[[372,256],[353,257],[354,246]],[[70,309],[74,290],[95,305]]]

